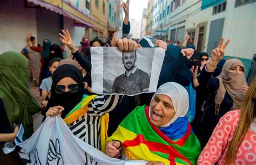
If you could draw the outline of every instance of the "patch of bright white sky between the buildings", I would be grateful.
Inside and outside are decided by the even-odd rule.
[[[126,2],[126,0],[124,0]],[[131,19],[142,20],[143,9],[147,8],[147,0],[130,0]]]

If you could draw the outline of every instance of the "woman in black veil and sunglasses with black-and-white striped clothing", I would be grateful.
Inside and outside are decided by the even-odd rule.
[[[104,114],[113,110],[121,98],[120,95],[84,95],[82,72],[77,66],[62,64],[60,61],[52,75],[46,117],[60,114],[76,137],[99,149],[100,146],[105,147],[100,145],[100,139],[105,142],[105,128],[102,123],[107,116]]]

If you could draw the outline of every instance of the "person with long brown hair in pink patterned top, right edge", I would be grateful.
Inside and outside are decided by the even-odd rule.
[[[256,164],[256,77],[241,110],[227,112],[203,149],[198,164]]]

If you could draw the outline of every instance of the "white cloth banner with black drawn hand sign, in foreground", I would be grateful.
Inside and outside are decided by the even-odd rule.
[[[48,117],[26,141],[18,144],[25,164],[146,164],[114,159],[77,138],[60,116]]]

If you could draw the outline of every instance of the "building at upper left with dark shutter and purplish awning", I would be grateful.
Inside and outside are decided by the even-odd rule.
[[[68,29],[75,46],[80,46],[83,35],[93,27],[90,10],[84,1],[0,1],[0,53],[21,52],[27,45],[26,36],[31,33],[37,44],[43,46],[44,39],[59,44],[62,29]],[[68,49],[64,52],[69,56]]]

